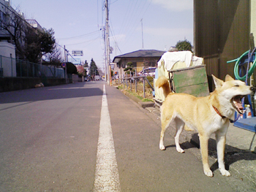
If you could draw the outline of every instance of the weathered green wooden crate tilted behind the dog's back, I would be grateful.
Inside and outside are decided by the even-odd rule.
[[[176,93],[188,93],[193,96],[208,96],[206,66],[192,66],[171,70]]]

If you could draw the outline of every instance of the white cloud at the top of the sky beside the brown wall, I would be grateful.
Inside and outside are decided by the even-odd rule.
[[[193,9],[193,0],[152,0],[152,4],[159,4],[173,12]]]

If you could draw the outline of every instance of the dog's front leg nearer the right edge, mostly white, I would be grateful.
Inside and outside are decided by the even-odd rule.
[[[219,171],[224,176],[230,176],[230,172],[228,172],[225,169],[225,164],[224,164],[226,135],[217,133],[216,134],[216,142],[217,142],[217,155],[218,155]]]

